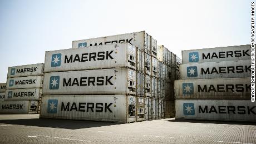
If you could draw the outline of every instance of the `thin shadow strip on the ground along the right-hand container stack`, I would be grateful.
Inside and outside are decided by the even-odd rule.
[[[168,122],[214,123],[227,125],[256,125],[255,122],[204,121],[204,120],[167,120]]]

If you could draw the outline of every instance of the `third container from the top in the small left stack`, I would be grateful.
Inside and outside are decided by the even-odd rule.
[[[42,94],[41,88],[21,88],[21,89],[10,89],[6,90],[6,97],[4,100],[12,101],[12,100],[39,100]]]

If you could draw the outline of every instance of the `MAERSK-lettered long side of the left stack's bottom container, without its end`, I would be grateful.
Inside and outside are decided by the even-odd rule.
[[[29,101],[1,101],[0,113],[28,113]]]

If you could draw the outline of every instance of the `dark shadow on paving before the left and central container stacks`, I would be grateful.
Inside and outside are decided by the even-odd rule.
[[[102,127],[102,126],[111,126],[111,125],[120,125],[121,124],[121,123],[114,123],[114,122],[59,120],[59,119],[44,119],[44,118],[0,120],[0,123],[11,124],[11,125],[65,128],[65,129],[71,129],[71,130],[76,130],[76,129],[80,129],[80,128]]]

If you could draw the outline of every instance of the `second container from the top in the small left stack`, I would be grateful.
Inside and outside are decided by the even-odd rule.
[[[43,76],[7,78],[6,89],[39,88],[42,87]]]

